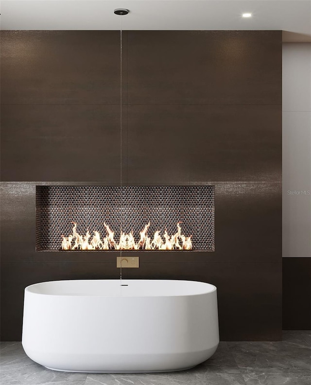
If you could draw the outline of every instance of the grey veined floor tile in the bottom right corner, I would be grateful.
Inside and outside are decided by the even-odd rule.
[[[244,368],[246,385],[310,385],[311,373],[304,369]]]

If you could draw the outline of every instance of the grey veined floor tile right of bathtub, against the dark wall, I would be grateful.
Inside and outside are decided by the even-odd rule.
[[[239,368],[311,370],[311,348],[289,342],[228,342]]]

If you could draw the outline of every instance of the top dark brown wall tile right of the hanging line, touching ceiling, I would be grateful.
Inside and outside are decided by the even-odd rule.
[[[129,31],[128,102],[281,104],[281,40],[281,31]]]

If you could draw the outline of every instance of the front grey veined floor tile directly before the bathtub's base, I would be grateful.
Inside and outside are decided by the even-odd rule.
[[[90,373],[85,385],[245,385],[239,368],[206,366],[168,373]]]

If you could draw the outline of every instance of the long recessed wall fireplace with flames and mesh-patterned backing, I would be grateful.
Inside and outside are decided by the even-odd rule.
[[[214,186],[36,186],[36,251],[214,249]]]

